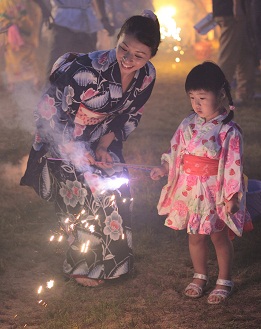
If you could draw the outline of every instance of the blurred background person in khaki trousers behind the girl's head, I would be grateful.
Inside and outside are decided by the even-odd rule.
[[[248,14],[251,0],[212,0],[220,26],[218,64],[231,83],[235,77],[235,104],[254,98],[256,51]]]

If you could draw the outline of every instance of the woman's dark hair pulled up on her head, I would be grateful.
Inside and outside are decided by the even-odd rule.
[[[155,17],[136,15],[128,18],[122,25],[117,36],[122,34],[133,35],[139,42],[151,49],[151,56],[155,56],[160,44],[160,25]]]

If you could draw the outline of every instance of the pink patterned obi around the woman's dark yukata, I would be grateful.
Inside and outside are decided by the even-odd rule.
[[[76,113],[74,123],[77,123],[82,126],[91,126],[104,121],[107,117],[107,113],[93,112],[91,110],[88,110],[87,107],[81,104]]]

